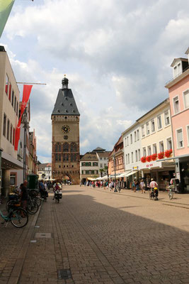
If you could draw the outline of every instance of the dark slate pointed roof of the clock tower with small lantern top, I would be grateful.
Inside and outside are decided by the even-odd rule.
[[[68,89],[68,79],[66,77],[62,80],[62,89],[59,89],[52,115],[80,115],[76,107],[74,95],[71,89]]]

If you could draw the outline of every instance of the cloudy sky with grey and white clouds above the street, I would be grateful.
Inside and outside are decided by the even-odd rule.
[[[173,58],[186,57],[188,27],[188,0],[16,0],[0,43],[18,82],[47,84],[30,95],[40,162],[51,161],[51,114],[64,74],[81,114],[81,154],[110,151],[168,97],[164,85]]]

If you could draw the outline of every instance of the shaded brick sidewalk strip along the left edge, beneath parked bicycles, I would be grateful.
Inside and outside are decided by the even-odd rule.
[[[6,212],[6,200],[0,204],[3,214]],[[5,227],[0,222],[0,284],[16,284],[21,273],[25,253],[28,249],[30,234],[38,219],[40,209],[35,215],[29,215],[28,224],[23,228],[16,228],[11,223]]]

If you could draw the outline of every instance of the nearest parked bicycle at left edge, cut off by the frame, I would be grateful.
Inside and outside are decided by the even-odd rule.
[[[4,224],[6,222],[6,226],[9,222],[13,224],[13,226],[16,226],[16,228],[23,228],[28,223],[28,214],[27,212],[21,208],[21,207],[15,207],[12,208],[8,215],[4,215],[0,210],[1,218],[4,219],[4,222],[1,224]]]

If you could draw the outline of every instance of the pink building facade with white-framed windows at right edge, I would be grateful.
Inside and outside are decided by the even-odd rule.
[[[189,54],[189,48],[186,51]],[[189,58],[189,57],[188,57]],[[176,178],[181,190],[189,192],[189,65],[188,58],[175,58],[173,80],[166,84],[171,105],[173,154],[176,160]]]

